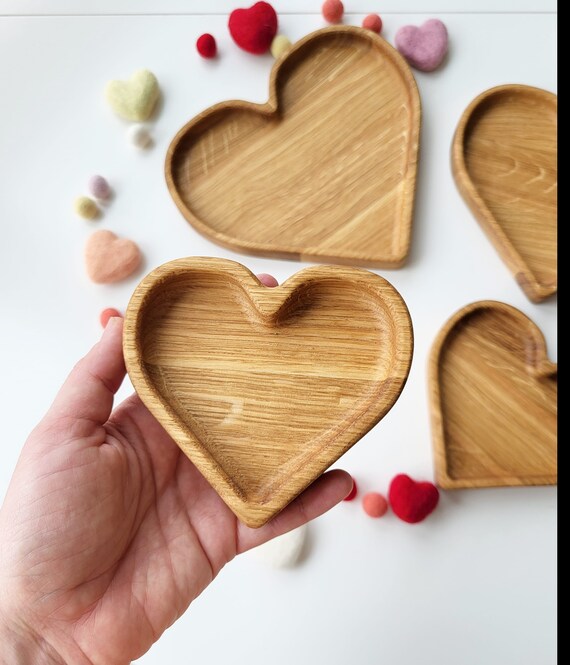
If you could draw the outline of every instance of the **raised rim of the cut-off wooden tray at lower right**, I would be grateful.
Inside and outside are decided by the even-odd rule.
[[[512,316],[518,323],[527,326],[532,333],[537,355],[533,364],[527,362],[527,370],[537,378],[557,376],[558,365],[547,353],[546,340],[540,328],[520,309],[498,300],[478,300],[457,310],[442,326],[432,344],[428,359],[428,394],[431,421],[432,449],[436,483],[445,490],[474,489],[481,487],[523,487],[534,485],[556,485],[558,474],[534,476],[532,482],[515,476],[502,478],[453,478],[448,473],[447,447],[444,428],[444,414],[439,381],[440,360],[446,342],[454,328],[477,310],[497,310]]]

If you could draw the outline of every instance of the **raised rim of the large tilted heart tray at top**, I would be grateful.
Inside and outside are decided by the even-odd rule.
[[[182,197],[178,193],[174,182],[173,176],[173,161],[175,157],[176,150],[180,142],[185,138],[186,134],[192,131],[195,125],[202,122],[208,116],[218,113],[219,111],[225,111],[228,109],[231,110],[246,110],[253,111],[259,115],[265,116],[267,118],[276,115],[279,112],[279,100],[278,100],[278,89],[277,82],[281,69],[287,63],[290,56],[293,56],[297,51],[305,48],[307,44],[310,44],[313,40],[320,39],[326,35],[346,35],[358,39],[366,39],[369,42],[372,42],[376,48],[380,49],[383,54],[389,58],[395,67],[398,68],[400,75],[405,80],[410,97],[412,99],[411,103],[411,131],[410,136],[407,141],[407,170],[406,170],[406,180],[409,187],[409,195],[405,197],[404,203],[402,205],[402,212],[400,219],[398,220],[398,230],[400,236],[404,239],[402,242],[402,248],[399,254],[393,254],[392,258],[389,260],[377,260],[373,258],[361,258],[357,255],[344,255],[344,256],[335,256],[326,252],[299,252],[298,250],[293,250],[293,248],[283,246],[280,249],[272,249],[270,243],[254,243],[252,241],[244,241],[239,238],[233,238],[232,236],[215,231],[208,224],[202,221],[199,217],[194,215],[192,210],[186,206]],[[315,30],[305,37],[302,37],[293,46],[280,58],[278,58],[273,67],[271,68],[269,76],[269,98],[267,102],[258,104],[255,102],[249,102],[246,100],[233,99],[214,104],[197,115],[191,118],[186,124],[184,124],[178,132],[175,134],[174,138],[168,146],[166,153],[166,159],[164,164],[164,174],[166,179],[166,184],[170,192],[171,197],[173,198],[176,207],[181,212],[182,216],[186,219],[187,222],[191,224],[200,234],[212,240],[213,242],[231,249],[242,254],[247,254],[250,256],[264,256],[268,258],[281,258],[281,259],[290,259],[304,262],[331,262],[339,265],[358,265],[360,267],[368,268],[400,268],[402,267],[409,255],[410,246],[411,246],[411,236],[412,236],[412,223],[414,217],[414,205],[416,198],[416,188],[417,188],[417,172],[418,172],[418,163],[419,163],[419,153],[420,153],[420,132],[422,124],[422,108],[421,108],[421,98],[419,94],[418,85],[411,67],[406,62],[405,58],[383,37],[377,35],[371,30],[365,30],[359,26],[352,25],[336,25],[329,26],[325,28],[320,28]]]

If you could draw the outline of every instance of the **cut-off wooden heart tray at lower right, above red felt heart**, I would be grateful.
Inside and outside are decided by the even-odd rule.
[[[557,366],[510,305],[457,312],[431,352],[436,480],[444,489],[557,482]]]

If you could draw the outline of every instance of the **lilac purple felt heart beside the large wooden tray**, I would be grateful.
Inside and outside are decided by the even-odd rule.
[[[441,64],[447,53],[447,28],[436,18],[419,28],[405,25],[396,33],[396,48],[406,60],[422,72],[431,72]]]

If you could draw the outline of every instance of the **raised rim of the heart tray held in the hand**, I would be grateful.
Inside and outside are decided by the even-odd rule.
[[[229,275],[243,289],[258,311],[263,314],[265,309],[265,313],[267,313],[267,308],[259,306],[260,294],[267,293],[267,287],[263,286],[259,279],[242,264],[229,259],[212,257],[188,257],[169,261],[144,277],[131,296],[125,313],[123,332],[125,365],[133,387],[141,401],[175,440],[179,448],[190,457],[191,461],[214,487],[228,507],[247,526],[260,527],[285,508],[303,489],[334,464],[341,455],[370,431],[397,402],[406,384],[413,357],[414,340],[411,316],[404,299],[390,282],[380,275],[359,268],[311,266],[298,271],[280,286],[271,289],[274,299],[277,299],[275,294],[280,295],[278,300],[279,306],[281,306],[297,288],[303,285],[323,281],[331,277],[335,279],[346,278],[346,274],[349,273],[355,285],[362,286],[371,297],[378,298],[379,293],[381,293],[380,300],[390,310],[394,323],[397,353],[393,359],[392,373],[389,377],[389,385],[386,387],[385,400],[379,408],[373,410],[372,405],[367,404],[363,414],[349,422],[340,431],[339,438],[343,441],[342,446],[337,446],[331,450],[325,447],[316,452],[314,460],[310,464],[312,467],[310,482],[303,482],[302,479],[296,483],[292,481],[293,490],[288,489],[287,483],[282,483],[273,498],[260,504],[255,501],[247,501],[242,497],[235,483],[212,458],[207,448],[195,436],[187,435],[184,428],[178,423],[178,416],[160,393],[154,389],[152,381],[144,369],[139,326],[148,299],[154,290],[160,288],[161,284],[164,284],[170,277],[177,272],[185,272],[188,269],[192,271],[206,270],[217,275],[224,273],[226,276]],[[341,276],[341,273],[343,276]],[[258,292],[257,295],[256,291]],[[270,311],[275,310],[270,309]],[[153,400],[160,404],[158,407],[160,412],[157,412],[156,404],[152,403]],[[346,440],[343,438],[345,433],[348,433]],[[337,453],[337,451],[339,452]],[[192,455],[189,454],[190,452]],[[295,480],[294,477],[293,480]]]

